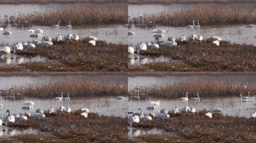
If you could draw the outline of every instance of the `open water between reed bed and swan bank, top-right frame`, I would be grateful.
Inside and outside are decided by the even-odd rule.
[[[200,23],[199,23],[200,24]],[[191,23],[192,25],[192,23]],[[212,36],[222,37],[225,41],[230,41],[236,44],[252,44],[256,45],[256,29],[247,28],[246,25],[202,25],[200,29],[173,27],[173,26],[157,26],[156,28],[136,28],[132,27],[129,31],[135,32],[135,35],[128,35],[128,44],[135,46],[141,42],[155,41],[152,33],[154,29],[168,29],[168,33],[163,33],[165,37],[161,38],[162,41],[167,41],[168,37],[179,38],[182,35],[201,35],[204,38]]]

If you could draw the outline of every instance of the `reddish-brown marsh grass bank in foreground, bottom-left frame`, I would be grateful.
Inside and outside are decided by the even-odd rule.
[[[15,141],[29,143],[124,143],[127,142],[127,118],[106,117],[89,113],[88,118],[80,118],[80,111],[70,115],[46,114],[45,119],[28,118],[27,121],[16,121],[9,127],[37,128],[46,131],[43,134],[24,134],[13,136],[11,140],[1,138],[1,142]]]

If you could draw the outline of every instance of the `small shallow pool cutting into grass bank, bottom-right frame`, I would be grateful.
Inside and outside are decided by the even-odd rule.
[[[150,134],[168,134],[174,136],[174,133],[164,131],[159,128],[134,128],[128,127],[128,137],[147,136]]]

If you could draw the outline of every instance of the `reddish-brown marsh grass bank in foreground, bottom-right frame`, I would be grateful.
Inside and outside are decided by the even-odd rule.
[[[138,136],[136,142],[148,143],[176,143],[176,142],[220,142],[220,143],[254,143],[256,140],[256,123],[254,118],[228,117],[222,114],[213,114],[213,118],[204,118],[208,111],[202,110],[195,115],[181,114],[169,119],[142,121],[134,124],[136,128],[160,128],[170,131],[177,136],[156,134]]]

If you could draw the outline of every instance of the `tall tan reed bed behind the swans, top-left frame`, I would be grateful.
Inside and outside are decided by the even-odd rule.
[[[69,25],[89,25],[89,24],[113,24],[127,23],[127,11],[124,9],[98,9],[98,8],[73,8],[57,11],[21,13],[15,21],[2,19],[1,26],[6,27],[9,23],[17,23],[21,26],[52,26],[57,25],[60,20],[60,26]],[[27,22],[26,22],[27,21]]]

